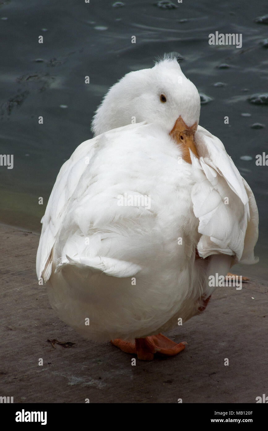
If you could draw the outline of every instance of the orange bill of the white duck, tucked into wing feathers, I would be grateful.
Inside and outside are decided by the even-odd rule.
[[[177,144],[180,144],[184,149],[183,159],[185,162],[191,163],[190,151],[194,153],[195,156],[198,157],[197,150],[194,142],[194,134],[197,129],[197,123],[194,123],[192,126],[188,127],[183,121],[182,117],[176,120],[172,131],[169,133],[173,139],[176,140]]]

